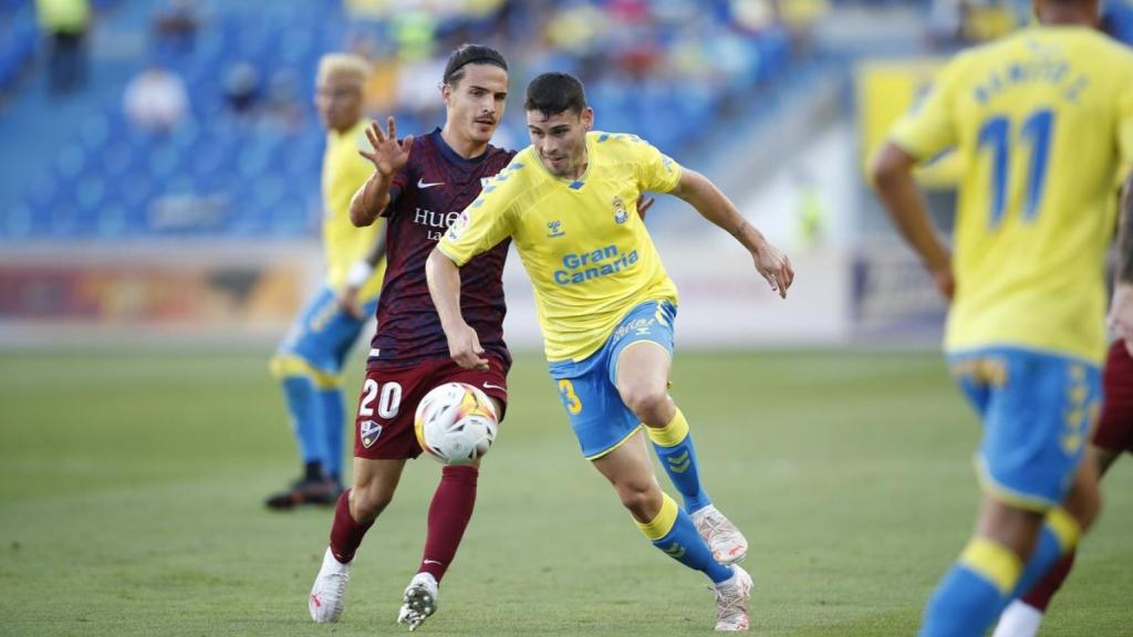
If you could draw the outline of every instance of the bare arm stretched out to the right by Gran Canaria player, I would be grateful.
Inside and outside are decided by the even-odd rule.
[[[773,246],[755,226],[748,223],[727,196],[707,177],[684,169],[673,194],[688,202],[701,216],[727,230],[751,253],[756,270],[772,290],[786,298],[794,281],[794,267],[782,250]]]

